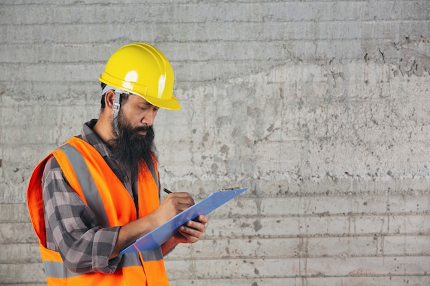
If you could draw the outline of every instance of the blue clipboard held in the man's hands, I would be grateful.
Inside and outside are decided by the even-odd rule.
[[[207,215],[247,189],[248,188],[227,189],[211,193],[205,199],[193,206],[190,206],[190,208],[187,208],[182,213],[175,215],[158,228],[155,228],[155,230],[152,230],[150,233],[137,239],[135,243],[131,244],[131,246],[124,248],[120,254],[152,250],[161,246],[161,244],[165,243],[170,239],[170,237],[175,235],[179,226],[185,224],[185,222],[195,219],[199,215]]]

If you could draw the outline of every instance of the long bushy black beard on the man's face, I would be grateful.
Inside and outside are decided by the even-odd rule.
[[[113,122],[112,130],[115,134]],[[131,182],[133,183],[139,176],[139,165],[152,160],[151,153],[154,156],[156,154],[154,129],[152,126],[131,128],[120,112],[117,130],[119,132],[117,138],[109,141],[112,158],[126,167],[127,174],[131,177]],[[139,135],[141,131],[146,132],[146,135]]]

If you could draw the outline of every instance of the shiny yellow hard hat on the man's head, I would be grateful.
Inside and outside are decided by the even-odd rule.
[[[139,95],[153,106],[179,110],[173,96],[173,69],[166,56],[146,43],[117,49],[106,63],[100,82]]]

